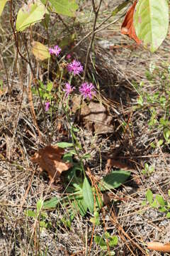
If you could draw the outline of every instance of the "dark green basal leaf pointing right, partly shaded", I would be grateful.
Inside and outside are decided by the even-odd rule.
[[[130,171],[112,171],[111,174],[106,175],[100,184],[101,191],[106,191],[112,188],[118,188],[130,176]]]

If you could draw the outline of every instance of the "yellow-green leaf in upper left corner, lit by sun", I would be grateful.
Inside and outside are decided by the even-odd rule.
[[[23,31],[31,24],[37,23],[44,18],[44,15],[48,11],[45,8],[44,4],[40,0],[35,1],[35,4],[32,2],[24,4],[23,7],[18,11],[16,18],[16,30]]]

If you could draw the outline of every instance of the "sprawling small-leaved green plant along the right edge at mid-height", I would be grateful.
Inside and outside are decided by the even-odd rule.
[[[158,140],[150,144],[152,148],[155,148],[170,144],[170,76],[169,65],[163,63],[163,67],[157,67],[154,63],[151,64],[145,74],[151,92],[145,90],[143,82],[140,82],[140,85],[135,85],[135,87],[140,93],[137,107],[149,110],[148,127],[152,131],[157,130],[159,132]]]

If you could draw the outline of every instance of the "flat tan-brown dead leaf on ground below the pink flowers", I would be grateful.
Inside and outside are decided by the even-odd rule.
[[[79,109],[80,100],[81,97],[74,96],[73,112],[76,112],[76,110]],[[86,105],[86,103],[83,102],[81,105],[80,117],[86,128],[93,130],[95,134],[113,132],[113,117],[109,113],[108,108],[101,105],[99,102],[90,102],[89,105]]]

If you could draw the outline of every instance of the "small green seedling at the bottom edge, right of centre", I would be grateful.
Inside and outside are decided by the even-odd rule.
[[[95,235],[94,241],[101,247],[101,250],[103,251],[108,250],[108,246],[111,247],[111,250],[113,250],[113,247],[118,245],[118,237],[116,235],[110,235],[108,232],[105,232],[103,236]],[[115,255],[115,252],[112,251],[111,255]]]

